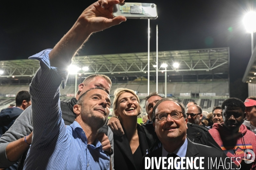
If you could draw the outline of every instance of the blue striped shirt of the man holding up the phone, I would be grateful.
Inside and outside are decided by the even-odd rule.
[[[87,144],[77,121],[65,126],[60,109],[59,86],[66,68],[50,66],[50,49],[29,59],[38,59],[40,68],[29,86],[32,101],[33,138],[24,170],[105,170],[110,159],[100,142]]]

